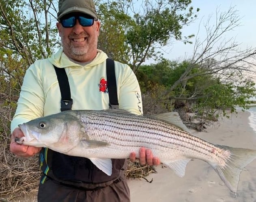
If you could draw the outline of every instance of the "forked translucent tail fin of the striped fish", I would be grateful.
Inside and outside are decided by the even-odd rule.
[[[223,145],[218,145],[223,149],[230,151],[230,157],[226,161],[225,166],[212,165],[219,177],[224,181],[230,191],[237,193],[237,187],[241,171],[247,164],[250,164],[256,158],[256,150],[234,148]]]

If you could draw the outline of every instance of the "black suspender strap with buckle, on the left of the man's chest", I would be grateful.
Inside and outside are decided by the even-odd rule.
[[[71,99],[69,80],[65,72],[65,68],[58,68],[54,66],[54,69],[60,86],[60,111],[63,112],[66,110],[71,110],[73,105],[73,99]]]

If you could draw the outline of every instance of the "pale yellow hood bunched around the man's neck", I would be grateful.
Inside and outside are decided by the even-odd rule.
[[[105,54],[102,50],[97,49],[97,56],[93,61],[85,65],[84,67],[93,67],[95,65],[98,65],[100,63],[103,63],[108,58],[107,54]],[[81,65],[73,63],[65,53],[63,53],[63,48],[60,48],[57,53],[51,55],[49,58],[50,63],[55,65],[59,68],[65,68],[65,67],[78,67],[80,68]]]

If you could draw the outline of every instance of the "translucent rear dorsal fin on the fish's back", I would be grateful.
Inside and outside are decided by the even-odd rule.
[[[155,114],[151,115],[154,119],[166,121],[182,130],[185,130],[187,133],[191,134],[191,131],[183,124],[178,112],[168,112],[164,114]]]

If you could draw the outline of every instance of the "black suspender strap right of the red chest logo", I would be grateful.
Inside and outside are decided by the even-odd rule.
[[[110,109],[118,109],[118,98],[116,89],[116,74],[114,60],[108,58],[106,60],[107,84]]]

